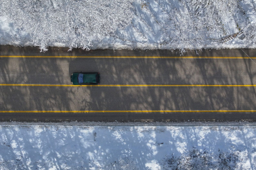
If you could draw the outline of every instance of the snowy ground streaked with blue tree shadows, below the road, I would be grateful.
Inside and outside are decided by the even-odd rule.
[[[255,123],[76,123],[1,123],[0,169],[256,168]]]

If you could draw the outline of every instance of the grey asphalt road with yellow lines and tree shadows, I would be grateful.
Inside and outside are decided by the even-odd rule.
[[[0,120],[256,120],[256,50],[0,46]],[[72,72],[100,86],[71,86]]]

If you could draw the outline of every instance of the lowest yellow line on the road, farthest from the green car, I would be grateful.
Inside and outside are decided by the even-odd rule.
[[[202,112],[256,112],[256,110],[1,110],[0,113],[202,113]]]

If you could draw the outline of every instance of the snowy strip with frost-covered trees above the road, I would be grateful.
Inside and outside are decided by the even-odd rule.
[[[41,50],[255,48],[255,23],[253,0],[0,1],[0,44]]]

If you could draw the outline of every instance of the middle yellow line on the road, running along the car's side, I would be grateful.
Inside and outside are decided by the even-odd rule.
[[[256,84],[0,84],[0,86],[50,86],[50,87],[256,87]]]

